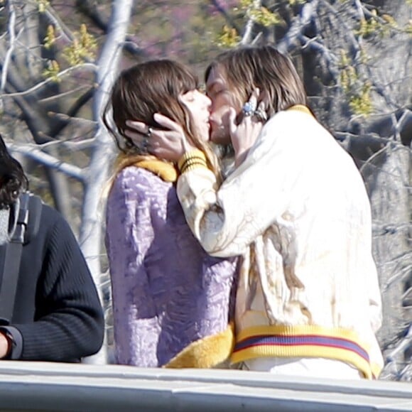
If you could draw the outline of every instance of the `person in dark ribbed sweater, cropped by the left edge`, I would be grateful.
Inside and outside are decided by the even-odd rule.
[[[0,136],[0,250],[27,187]],[[103,336],[102,305],[77,240],[60,213],[43,205],[38,232],[23,245],[11,321],[0,326],[0,359],[79,362],[99,351]]]

